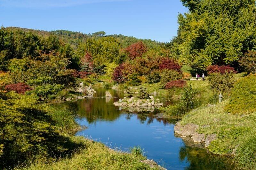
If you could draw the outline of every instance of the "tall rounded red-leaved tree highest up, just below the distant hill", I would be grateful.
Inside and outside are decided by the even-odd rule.
[[[139,41],[125,48],[125,51],[129,53],[128,56],[130,59],[135,59],[136,57],[141,57],[143,53],[147,52],[147,47],[142,41]]]

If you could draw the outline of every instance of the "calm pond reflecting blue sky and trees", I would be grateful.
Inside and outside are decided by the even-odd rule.
[[[233,169],[226,157],[208,154],[205,149],[189,145],[174,136],[177,120],[157,118],[154,112],[133,113],[113,105],[121,93],[114,89],[95,89],[94,95],[105,96],[108,90],[117,98],[91,98],[62,103],[77,113],[76,121],[88,127],[76,135],[100,141],[113,149],[129,152],[133,146],[144,149],[148,159],[154,159],[167,169]],[[160,99],[161,100],[161,99]]]

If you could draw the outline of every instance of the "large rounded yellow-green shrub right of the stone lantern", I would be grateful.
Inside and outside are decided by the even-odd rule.
[[[236,82],[231,91],[227,112],[253,112],[256,110],[256,75],[249,75]]]

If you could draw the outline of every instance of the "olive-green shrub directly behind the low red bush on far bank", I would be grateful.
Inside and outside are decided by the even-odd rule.
[[[161,76],[161,81],[160,81],[161,87],[164,87],[165,84],[169,81],[178,80],[182,78],[182,74],[180,74],[179,72],[175,70],[168,70],[168,69],[161,70],[160,76]]]

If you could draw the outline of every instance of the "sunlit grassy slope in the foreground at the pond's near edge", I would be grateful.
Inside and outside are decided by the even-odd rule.
[[[117,152],[109,149],[102,143],[93,142],[84,137],[71,137],[75,143],[82,143],[85,149],[71,154],[69,158],[61,158],[57,161],[44,162],[38,160],[29,167],[17,167],[26,170],[48,170],[48,169],[152,169],[140,160],[143,156],[134,156],[130,153]]]

